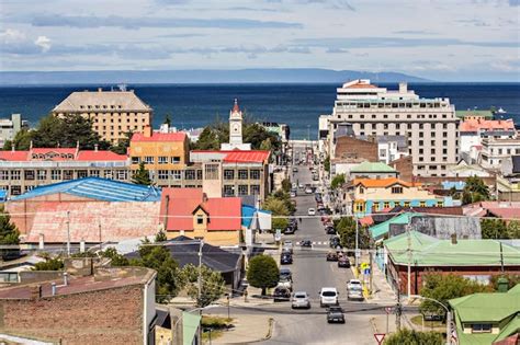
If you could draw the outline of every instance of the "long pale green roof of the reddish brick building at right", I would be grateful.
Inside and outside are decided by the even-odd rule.
[[[417,266],[499,266],[500,242],[497,240],[451,240],[410,231],[411,263]],[[388,255],[396,264],[408,263],[407,233],[384,241]],[[520,265],[520,249],[502,244],[505,265]]]

